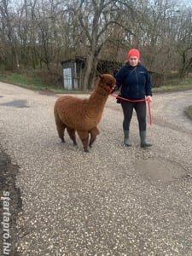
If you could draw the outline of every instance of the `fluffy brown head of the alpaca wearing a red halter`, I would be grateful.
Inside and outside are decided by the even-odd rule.
[[[115,83],[116,79],[111,74],[106,73],[99,75],[99,78],[96,82],[96,91],[99,91],[104,96],[107,96],[113,89]]]

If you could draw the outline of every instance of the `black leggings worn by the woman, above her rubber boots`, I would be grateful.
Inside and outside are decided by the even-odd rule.
[[[137,113],[137,120],[139,125],[139,131],[146,131],[146,102],[126,102],[121,101],[121,106],[124,113],[123,128],[124,131],[130,130],[130,122],[135,108]]]

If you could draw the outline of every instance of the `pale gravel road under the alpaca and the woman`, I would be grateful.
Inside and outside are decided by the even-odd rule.
[[[57,97],[0,83],[0,144],[19,166],[22,201],[14,256],[191,256],[192,90],[154,94],[147,149],[135,114],[124,147],[121,107],[109,96],[87,154],[79,140],[60,142]]]

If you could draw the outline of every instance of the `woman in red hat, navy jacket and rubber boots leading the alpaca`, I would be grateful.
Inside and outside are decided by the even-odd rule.
[[[131,146],[130,141],[130,122],[135,108],[139,125],[139,134],[141,147],[150,147],[152,144],[146,141],[146,102],[151,102],[151,81],[148,70],[140,64],[140,52],[138,49],[128,51],[128,61],[125,66],[121,67],[115,78],[117,80],[115,90],[121,87],[121,96],[130,102],[121,100],[121,106],[124,113],[123,129],[124,144]],[[143,100],[137,102],[138,100]]]

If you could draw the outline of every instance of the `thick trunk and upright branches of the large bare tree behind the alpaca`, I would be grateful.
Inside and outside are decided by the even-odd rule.
[[[87,59],[84,71],[84,81],[82,89],[86,90],[92,82],[96,72],[98,56],[103,45],[106,43],[104,32],[112,26],[110,20],[113,14],[113,7],[116,1],[91,0],[80,1],[77,16],[80,26],[86,37]]]

